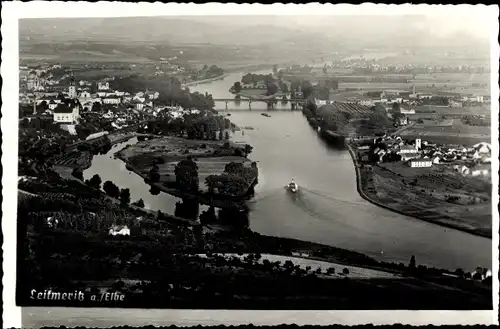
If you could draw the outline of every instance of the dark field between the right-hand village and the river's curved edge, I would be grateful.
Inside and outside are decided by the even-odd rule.
[[[363,190],[375,202],[430,222],[491,236],[491,181],[450,166],[410,168],[382,163],[363,169]]]

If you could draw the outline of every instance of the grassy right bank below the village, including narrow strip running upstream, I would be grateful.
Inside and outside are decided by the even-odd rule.
[[[358,161],[355,145],[346,140],[346,146],[356,169],[358,193],[363,199],[405,216],[491,239],[491,196],[474,191],[478,198],[486,198],[486,203],[453,204],[450,207],[451,204],[444,200],[444,192],[438,190],[436,183],[409,187],[397,172],[377,165],[364,166]],[[427,168],[417,170],[421,169]],[[476,189],[482,187],[481,183],[475,186]],[[446,193],[454,195],[451,188],[446,188]],[[439,199],[439,196],[442,198]]]

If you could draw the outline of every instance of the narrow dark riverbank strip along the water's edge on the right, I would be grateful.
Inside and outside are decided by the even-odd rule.
[[[349,139],[345,140],[345,145],[349,150],[349,154],[352,157],[353,164],[355,167],[356,187],[358,193],[366,201],[376,206],[382,207],[384,209],[399,213],[401,215],[417,218],[419,220],[456,229],[473,235],[489,239],[492,238],[491,222],[489,227],[487,225],[482,226],[478,225],[477,221],[474,220],[466,221],[463,218],[447,216],[445,214],[439,213],[438,211],[430,207],[422,207],[425,204],[422,204],[420,207],[414,207],[411,205],[409,200],[406,200],[407,193],[404,191],[399,193],[399,197],[391,198],[390,196],[387,196],[384,202],[384,199],[378,196],[379,191],[377,191],[376,187],[373,184],[374,180],[376,179],[384,180],[384,177],[377,175],[377,173],[374,172],[372,167],[370,167],[372,168],[372,170],[369,170],[361,163],[359,163],[355,146],[352,145],[352,142]],[[409,193],[409,191],[407,192]]]

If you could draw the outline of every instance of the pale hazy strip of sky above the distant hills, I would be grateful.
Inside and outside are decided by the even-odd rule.
[[[332,19],[335,17],[335,19]],[[412,28],[423,33],[431,33],[434,37],[450,37],[462,35],[486,39],[490,36],[491,26],[486,24],[483,17],[469,15],[464,24],[464,18],[455,15],[158,15],[158,16],[129,16],[129,17],[57,17],[57,18],[22,18],[19,20],[20,33],[23,33],[23,23],[79,21],[80,23],[106,24],[121,19],[148,19],[165,20],[165,22],[190,21],[201,24],[220,26],[230,24],[238,27],[243,26],[277,26],[289,30],[312,30],[315,32],[334,27],[336,29],[347,29],[350,33],[363,31],[377,34],[392,32],[395,27]],[[293,23],[293,26],[291,26]],[[144,24],[148,24],[145,22]],[[92,25],[92,24],[90,24]],[[29,28],[29,27],[28,27]],[[385,31],[384,31],[385,30]],[[389,31],[387,31],[389,30]],[[392,30],[392,31],[391,31]],[[323,31],[324,32],[324,31]],[[329,33],[323,33],[329,36]]]

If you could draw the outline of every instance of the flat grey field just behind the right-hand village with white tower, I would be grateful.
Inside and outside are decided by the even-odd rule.
[[[438,124],[415,124],[401,132],[402,138],[414,139],[422,138],[431,143],[438,144],[459,144],[472,146],[479,142],[491,141],[491,128],[482,126],[468,126],[457,123],[453,120],[453,125],[439,126]]]

